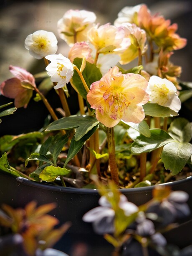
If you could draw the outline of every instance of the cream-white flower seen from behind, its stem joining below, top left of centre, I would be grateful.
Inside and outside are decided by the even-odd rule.
[[[61,39],[69,46],[76,42],[87,41],[87,32],[96,21],[96,15],[86,10],[68,10],[58,20],[57,27]]]

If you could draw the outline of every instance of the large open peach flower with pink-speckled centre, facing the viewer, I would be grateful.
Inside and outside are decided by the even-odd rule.
[[[100,81],[91,84],[87,100],[96,109],[96,118],[106,127],[124,122],[140,123],[144,119],[143,106],[149,101],[148,82],[136,74],[122,74],[111,68]]]

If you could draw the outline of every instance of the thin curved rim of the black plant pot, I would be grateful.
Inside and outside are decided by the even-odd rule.
[[[41,188],[41,189],[45,189],[45,190],[52,190],[52,191],[57,191],[57,192],[62,192],[62,193],[66,193],[66,192],[70,192],[70,193],[78,193],[78,194],[93,194],[93,195],[99,195],[99,190],[98,189],[92,189],[92,188],[71,188],[71,187],[61,187],[58,185],[53,185],[53,184],[46,184],[46,183],[42,183],[42,182],[36,182],[33,180],[28,180],[27,178],[24,177],[17,177],[12,175],[9,172],[5,172],[0,170],[0,175],[1,173],[4,173],[5,175],[7,174],[10,177],[13,177],[16,179],[17,182],[19,183],[23,183],[24,185],[28,185],[31,187],[36,187],[36,188]],[[184,182],[186,182],[187,180],[191,180],[192,181],[192,176],[183,178],[181,180],[175,180],[172,182],[166,182],[166,183],[162,183],[159,184],[161,186],[172,186],[172,185],[180,185]],[[138,193],[138,192],[149,192],[151,190],[154,189],[154,187],[157,185],[152,185],[152,186],[148,186],[148,187],[141,187],[141,188],[122,188],[120,189],[120,191],[124,192],[124,193]]]

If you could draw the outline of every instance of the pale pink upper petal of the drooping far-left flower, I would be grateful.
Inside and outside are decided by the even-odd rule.
[[[33,87],[36,87],[34,76],[26,71],[24,68],[10,65],[9,71],[21,82],[25,81],[31,84]]]

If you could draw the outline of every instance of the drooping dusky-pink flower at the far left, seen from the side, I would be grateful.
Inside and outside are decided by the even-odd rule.
[[[24,68],[9,66],[9,70],[15,77],[4,81],[0,85],[0,92],[5,97],[15,99],[16,108],[26,108],[33,95],[33,87],[36,87],[35,79]]]

